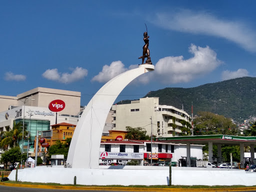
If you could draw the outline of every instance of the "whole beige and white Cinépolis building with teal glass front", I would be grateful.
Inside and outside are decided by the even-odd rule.
[[[80,92],[37,87],[17,96],[0,96],[0,132],[13,127],[13,121],[21,121],[24,129],[30,132],[34,140],[36,131],[50,130],[50,124],[66,122],[77,124],[80,113]],[[52,112],[48,105],[53,100],[65,103],[63,110]],[[26,136],[26,135],[24,135]],[[19,141],[23,151],[27,150],[27,139]],[[34,151],[34,142],[30,142],[29,150]]]

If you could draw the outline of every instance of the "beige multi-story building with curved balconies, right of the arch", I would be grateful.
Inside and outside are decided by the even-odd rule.
[[[126,126],[145,128],[147,134],[173,136],[186,134],[182,128],[191,124],[190,116],[184,110],[168,105],[159,105],[158,97],[146,97],[130,104],[112,105],[113,130],[126,130]]]

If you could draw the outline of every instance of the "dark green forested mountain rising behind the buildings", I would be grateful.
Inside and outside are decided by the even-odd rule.
[[[191,114],[198,111],[213,113],[243,121],[256,116],[256,77],[241,77],[221,82],[207,83],[191,88],[168,87],[149,91],[144,97],[159,97],[159,104],[182,108]],[[117,104],[130,103],[130,100]]]

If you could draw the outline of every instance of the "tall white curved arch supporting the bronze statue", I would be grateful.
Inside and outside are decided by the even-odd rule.
[[[72,168],[98,168],[99,146],[107,114],[122,89],[137,76],[154,70],[140,64],[105,83],[85,107],[73,134],[67,155]]]

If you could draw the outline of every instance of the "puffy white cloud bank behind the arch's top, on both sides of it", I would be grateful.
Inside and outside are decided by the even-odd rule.
[[[132,82],[146,84],[152,79],[167,84],[188,82],[211,72],[222,62],[217,59],[216,52],[209,46],[200,47],[191,44],[189,52],[193,56],[188,59],[183,59],[183,56],[167,56],[159,59],[153,72],[144,73]],[[121,61],[113,61],[109,66],[104,65],[102,71],[94,76],[92,81],[107,82],[116,75],[137,67],[138,65],[130,65],[125,68]]]

